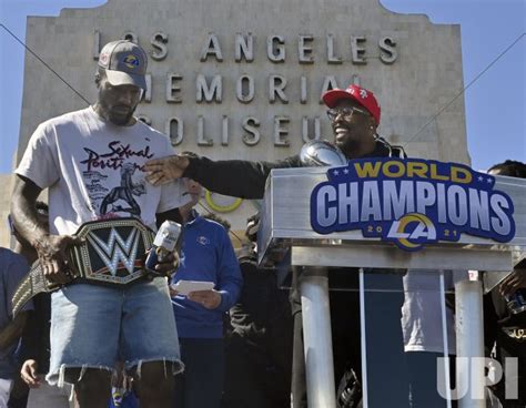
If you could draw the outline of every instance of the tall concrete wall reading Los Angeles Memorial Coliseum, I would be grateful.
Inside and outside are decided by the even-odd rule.
[[[158,58],[163,51],[152,45],[152,37],[168,38],[165,57],[150,59],[151,101],[142,103],[138,113],[146,115],[154,128],[171,133],[174,143],[181,142],[178,150],[215,159],[284,157],[295,154],[304,141],[304,116],[310,119],[306,136],[315,135],[317,118],[317,135],[331,140],[320,95],[333,75],[340,88],[360,82],[377,95],[382,105],[380,132],[405,145],[409,155],[469,162],[464,99],[433,118],[463,90],[458,26],[433,24],[426,16],[393,13],[378,0],[110,0],[95,9],[64,9],[58,18],[29,18],[27,42],[93,101],[98,51],[127,33],[133,33]],[[235,61],[237,33],[252,35],[252,62]],[[283,62],[273,62],[267,55],[272,35],[283,38]],[[327,45],[331,41],[332,51]],[[380,42],[390,45],[395,57]],[[206,45],[210,52],[203,58]],[[220,49],[222,61],[218,58]],[[171,74],[176,76],[170,79]],[[218,75],[221,102],[199,102],[200,78],[210,84]],[[236,84],[243,75],[253,80],[250,102],[236,98]],[[279,96],[271,101],[270,83],[280,82],[272,75],[286,80],[283,92],[287,103]],[[247,82],[245,78],[244,95],[249,93]],[[84,106],[82,99],[27,54],[19,155],[38,123]],[[182,141],[178,126],[166,128],[174,116],[183,122]],[[246,143],[254,141],[243,129],[249,118],[254,119],[249,124],[259,123],[255,129],[261,139],[255,145]],[[276,126],[284,131],[276,132]],[[205,145],[210,142],[213,144]],[[241,230],[255,206],[243,203],[223,215],[234,230]]]

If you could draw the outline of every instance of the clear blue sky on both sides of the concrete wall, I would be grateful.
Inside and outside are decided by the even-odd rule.
[[[352,1],[352,0],[350,0]],[[105,0],[0,0],[0,21],[26,37],[27,16],[57,16]],[[505,159],[526,161],[526,2],[524,0],[381,0],[390,10],[424,13],[435,23],[459,23],[467,85],[517,38],[520,40],[466,91],[473,167]],[[23,48],[0,28],[0,173],[10,173],[20,126]],[[435,113],[435,112],[434,112]]]

